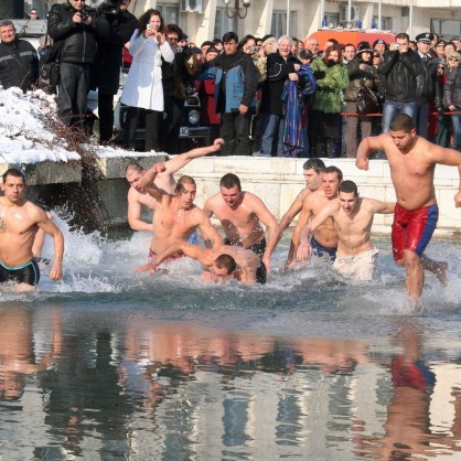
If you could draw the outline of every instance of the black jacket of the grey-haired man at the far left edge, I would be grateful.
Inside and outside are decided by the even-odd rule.
[[[18,86],[24,93],[39,77],[39,55],[26,40],[0,43],[0,84],[3,88]]]

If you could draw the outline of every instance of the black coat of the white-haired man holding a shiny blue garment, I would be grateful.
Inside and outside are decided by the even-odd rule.
[[[281,99],[288,74],[294,73],[294,64],[302,64],[294,56],[288,56],[287,61],[279,52],[267,55],[267,81],[262,84],[261,114],[275,114],[283,116],[285,104]]]

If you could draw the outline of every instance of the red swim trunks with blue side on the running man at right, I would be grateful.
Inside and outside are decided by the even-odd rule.
[[[429,240],[436,230],[439,218],[437,205],[425,206],[411,212],[395,206],[393,224],[393,253],[394,259],[404,259],[404,249],[416,253],[421,257]]]

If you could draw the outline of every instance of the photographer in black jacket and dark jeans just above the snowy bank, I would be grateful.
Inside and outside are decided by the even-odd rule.
[[[109,24],[82,0],[54,4],[49,14],[47,34],[58,47],[61,62],[57,108],[63,121],[84,129],[89,67],[94,62],[97,37],[107,35]]]

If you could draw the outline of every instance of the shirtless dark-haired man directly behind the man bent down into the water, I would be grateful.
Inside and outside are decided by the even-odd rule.
[[[259,197],[242,191],[240,180],[235,174],[225,174],[219,186],[221,192],[206,201],[203,211],[219,219],[226,235],[226,245],[250,249],[261,258],[257,281],[265,283],[267,272],[270,271],[270,257],[280,237],[277,219]],[[269,228],[267,245],[261,223]]]

